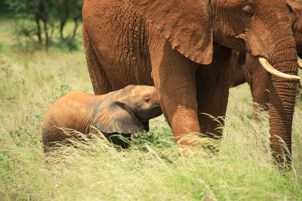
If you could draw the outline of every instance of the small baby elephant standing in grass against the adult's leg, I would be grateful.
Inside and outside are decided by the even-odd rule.
[[[130,138],[132,133],[143,131],[143,124],[149,119],[161,114],[154,86],[129,85],[104,95],[73,91],[58,98],[44,117],[44,152],[55,142],[77,138],[72,132],[68,135],[58,128],[73,129],[83,134],[96,133],[91,125],[102,131],[112,143],[126,148],[128,144],[112,135],[121,133]]]

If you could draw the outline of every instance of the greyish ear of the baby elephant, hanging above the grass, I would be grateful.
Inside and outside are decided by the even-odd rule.
[[[113,102],[108,105],[107,98],[101,100],[94,111],[94,125],[104,133],[138,133],[144,130],[133,112],[124,104]]]

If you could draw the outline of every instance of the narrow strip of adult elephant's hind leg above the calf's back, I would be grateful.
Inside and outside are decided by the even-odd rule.
[[[86,56],[87,67],[92,82],[93,90],[96,95],[106,94],[112,91],[112,86],[106,76],[106,73],[101,66],[93,45],[83,26],[83,43]]]

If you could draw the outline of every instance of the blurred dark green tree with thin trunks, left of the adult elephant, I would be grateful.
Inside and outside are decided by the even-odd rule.
[[[37,36],[38,42],[44,45],[46,50],[51,45],[56,30],[59,32],[61,42],[68,45],[74,40],[78,21],[82,18],[83,2],[84,0],[7,0],[17,19],[34,22],[34,26],[19,24],[17,34],[25,35],[33,41],[35,40],[33,36]],[[74,22],[74,28],[64,37],[63,30],[68,20]]]

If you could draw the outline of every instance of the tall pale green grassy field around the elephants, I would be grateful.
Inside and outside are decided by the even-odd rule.
[[[33,51],[14,38],[13,21],[0,23],[0,200],[302,200],[302,102],[293,169],[281,173],[268,115],[254,122],[247,84],[231,89],[219,153],[180,148],[161,116],[128,150],[95,139],[45,157],[41,122],[52,102],[71,90],[93,93],[83,48]]]

